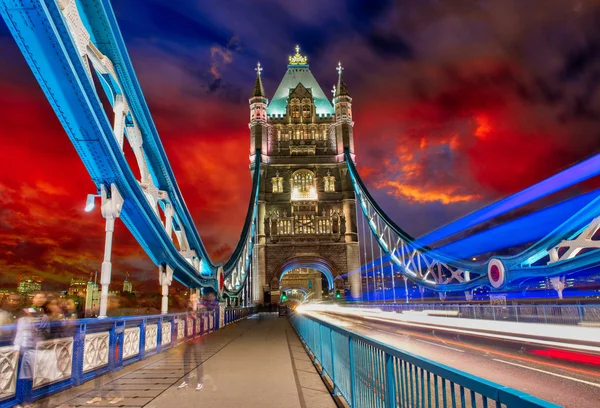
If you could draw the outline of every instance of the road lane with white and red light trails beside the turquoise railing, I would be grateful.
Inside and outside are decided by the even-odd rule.
[[[416,329],[335,312],[309,314],[555,404],[600,407],[600,356]]]

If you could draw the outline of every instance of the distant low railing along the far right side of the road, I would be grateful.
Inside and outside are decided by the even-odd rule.
[[[386,312],[444,311],[456,317],[503,322],[598,325],[600,305],[487,305],[443,303],[353,303],[352,307],[377,308]]]

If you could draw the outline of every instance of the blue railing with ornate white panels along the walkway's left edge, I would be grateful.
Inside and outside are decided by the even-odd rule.
[[[27,392],[37,400],[118,371],[251,312],[252,308],[217,308],[194,315],[171,313],[55,322],[50,339],[38,341],[33,351],[33,384],[18,376],[23,351],[13,347],[16,325],[0,326],[0,408],[20,403]]]

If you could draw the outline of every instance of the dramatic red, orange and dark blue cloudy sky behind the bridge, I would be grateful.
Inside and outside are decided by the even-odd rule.
[[[114,1],[146,100],[211,254],[235,246],[250,193],[248,97],[271,95],[299,44],[327,93],[339,60],[357,164],[419,236],[600,152],[600,2]],[[100,267],[95,187],[0,23],[0,286]],[[123,224],[117,282],[154,288]],[[55,286],[56,286],[55,285]],[[52,286],[52,285],[51,285]]]

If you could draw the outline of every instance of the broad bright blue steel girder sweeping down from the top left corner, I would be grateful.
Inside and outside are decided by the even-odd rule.
[[[211,286],[178,253],[153,214],[125,157],[54,0],[0,0],[0,13],[94,183],[114,183],[121,219],[155,264],[169,264],[187,286]]]

